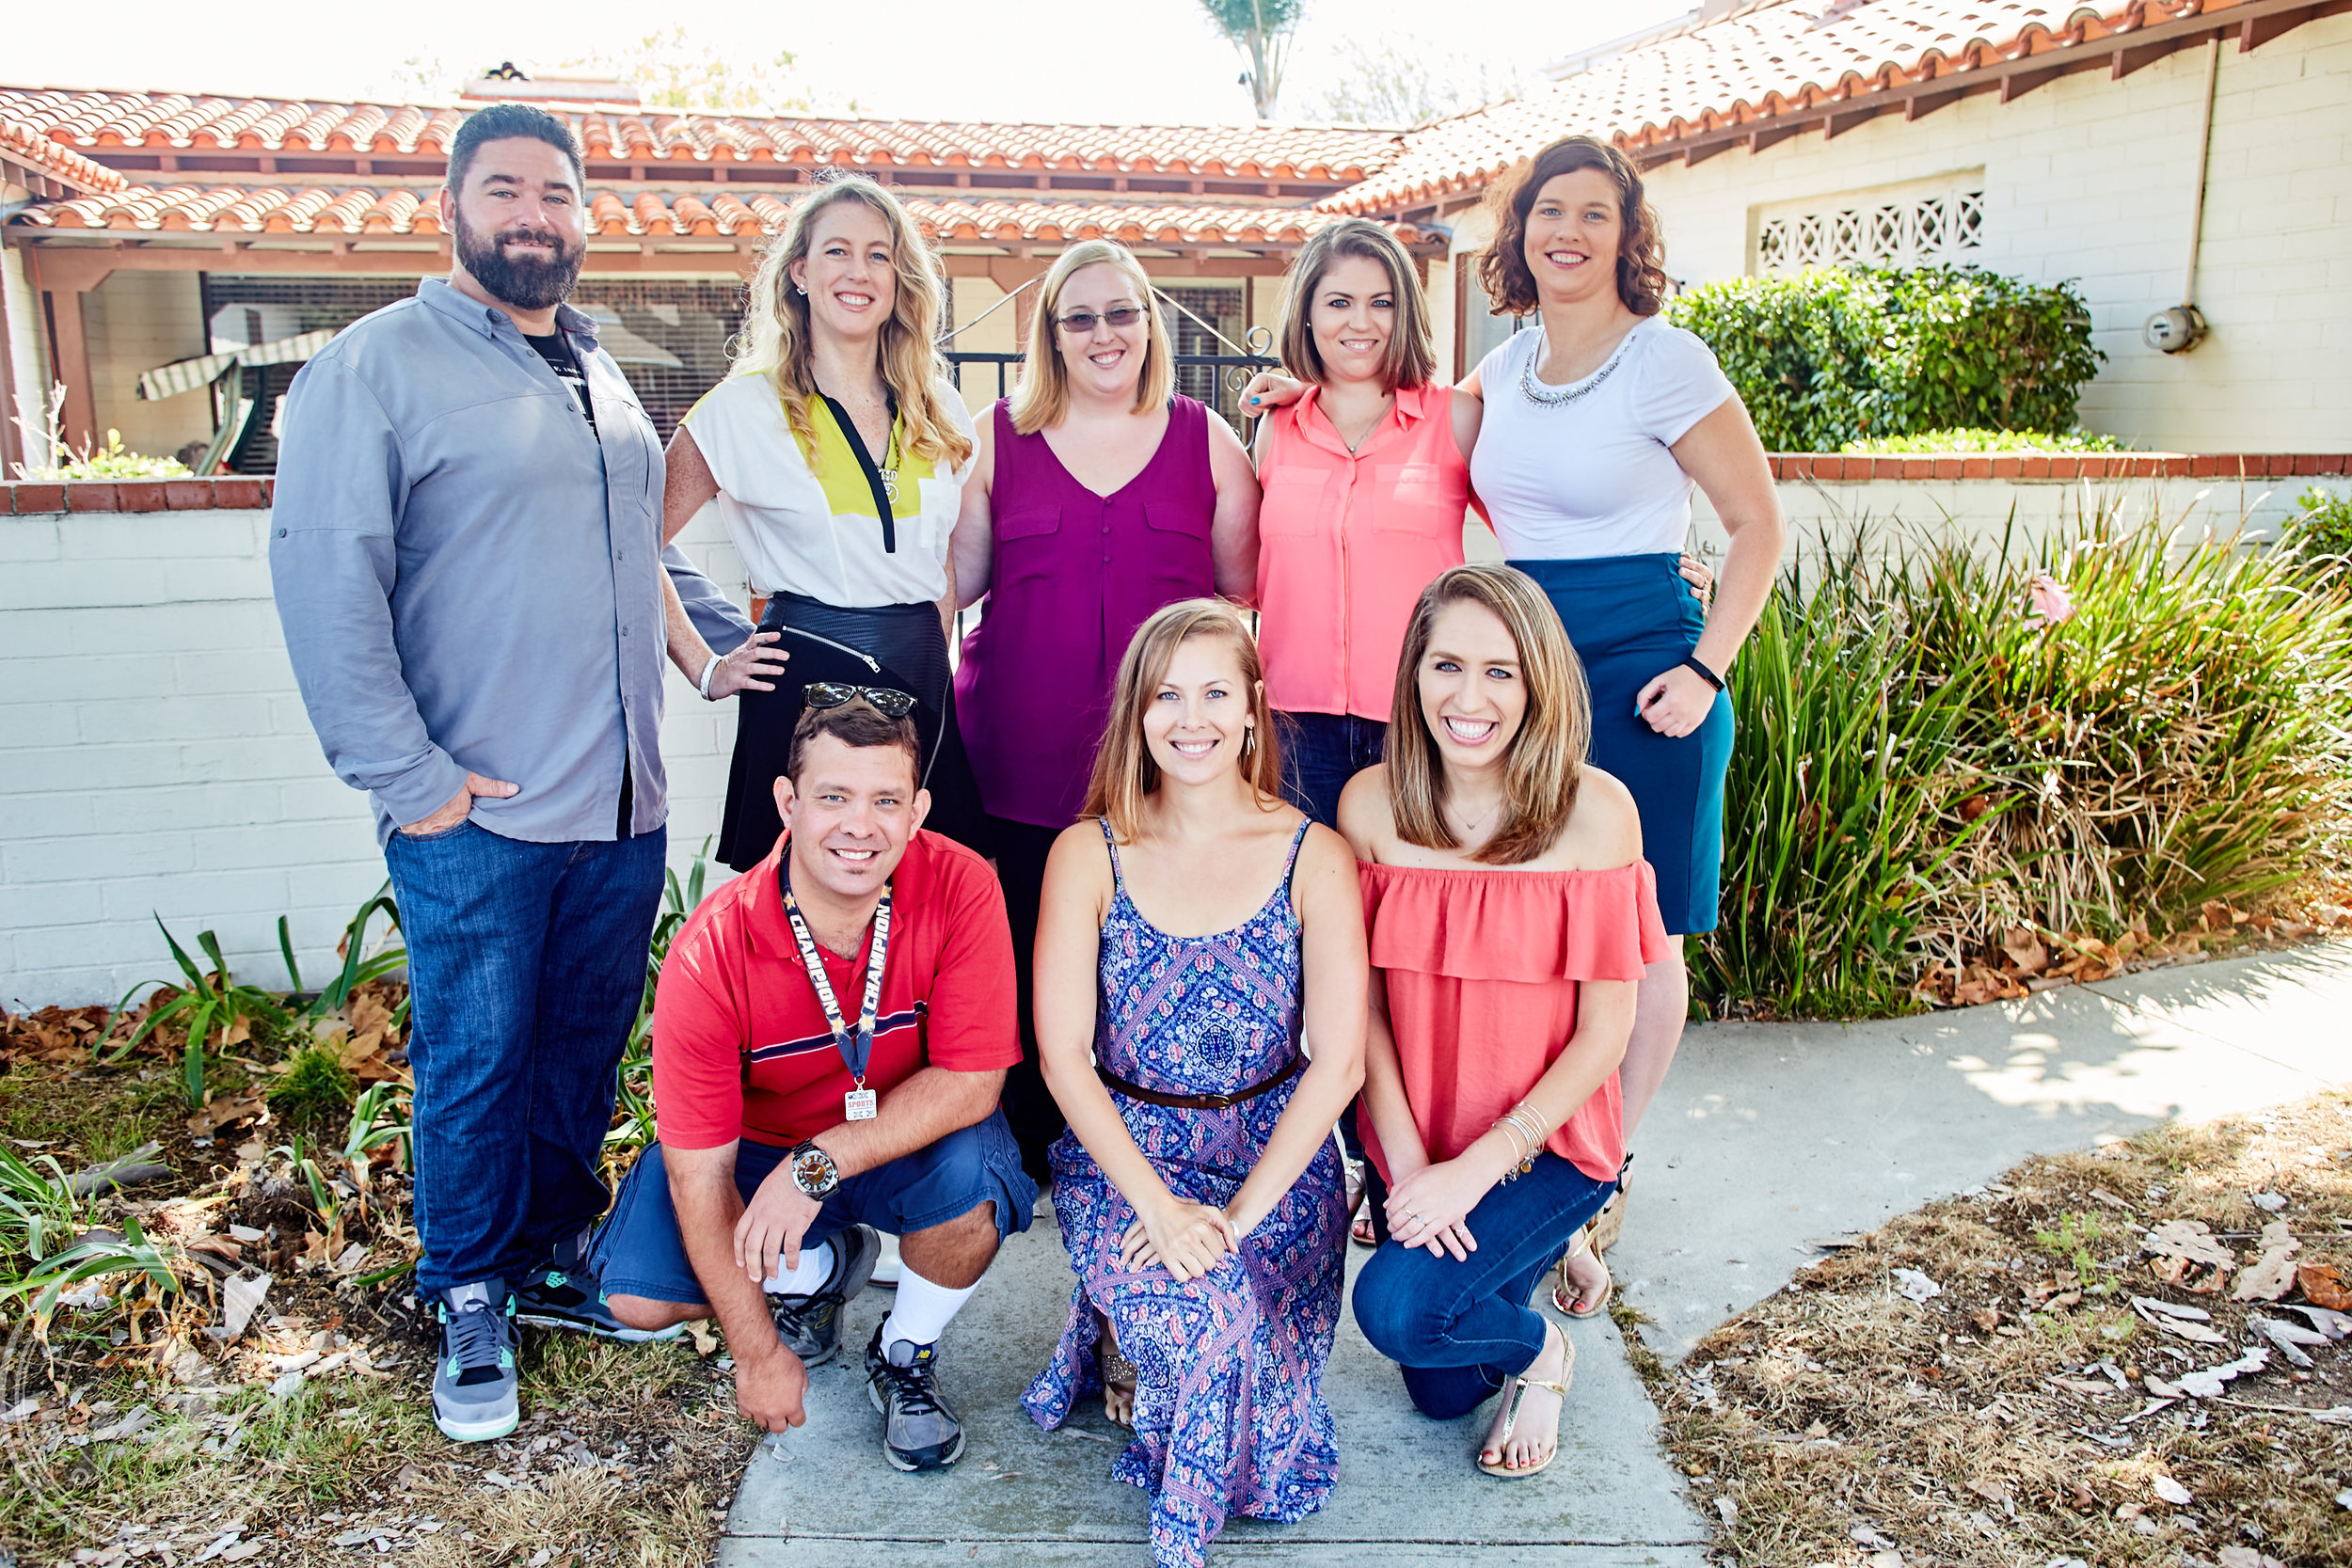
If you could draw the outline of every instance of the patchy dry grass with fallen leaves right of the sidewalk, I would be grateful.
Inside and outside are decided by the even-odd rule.
[[[2300,1291],[2232,1300],[2279,1220],[2296,1262],[2352,1276],[2347,1145],[2352,1095],[2326,1093],[2034,1159],[1828,1255],[1682,1368],[1646,1361],[1665,1441],[1722,1521],[1719,1559],[2352,1566],[2352,1340],[2303,1347],[2298,1368],[2258,1331],[2303,1328]],[[2147,1253],[2166,1220],[2206,1225],[2232,1267]],[[1905,1298],[1898,1269],[1938,1293]],[[2187,1328],[2220,1342],[2159,1328],[2133,1298],[2206,1312]],[[2263,1371],[2180,1394],[2183,1373],[2256,1345]]]

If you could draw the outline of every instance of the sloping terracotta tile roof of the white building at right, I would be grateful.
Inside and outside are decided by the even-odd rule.
[[[2246,5],[2253,0],[1759,0],[1524,99],[1409,132],[1402,158],[1319,207],[1395,212],[1477,188],[1569,132],[1611,134],[1628,150],[1661,148],[2190,16],[2230,26],[2230,12]]]

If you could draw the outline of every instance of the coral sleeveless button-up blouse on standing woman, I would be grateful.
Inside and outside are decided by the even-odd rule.
[[[1430,578],[1463,564],[1470,465],[1454,444],[1454,388],[1397,388],[1397,407],[1355,451],[1319,390],[1265,416],[1265,701],[1385,722],[1414,604]]]

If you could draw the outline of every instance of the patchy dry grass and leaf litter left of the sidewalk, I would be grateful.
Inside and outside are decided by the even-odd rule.
[[[214,1063],[212,1105],[191,1114],[174,1041],[103,1065],[89,1041],[61,1039],[66,1023],[31,1041],[0,1034],[0,1138],[64,1171],[158,1143],[169,1175],[78,1204],[75,1229],[136,1225],[172,1286],[103,1274],[45,1326],[28,1300],[0,1312],[0,1561],[710,1559],[755,1436],[715,1356],[691,1340],[524,1328],[522,1427],[499,1443],[445,1441],[428,1396],[433,1331],[407,1295],[397,1140],[343,1159],[348,1105],[270,1117],[268,1088],[287,1074],[245,1058]],[[31,1265],[24,1237],[7,1234],[0,1276]],[[263,1274],[261,1307],[230,1335],[230,1281]]]

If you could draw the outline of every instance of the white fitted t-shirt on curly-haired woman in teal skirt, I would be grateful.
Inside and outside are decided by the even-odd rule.
[[[1625,334],[1592,388],[1541,404],[1519,376],[1543,331],[1517,331],[1479,362],[1486,411],[1470,484],[1510,559],[1679,552],[1691,531],[1691,475],[1670,447],[1731,397],[1715,350],[1649,315]],[[1552,393],[1569,388],[1545,388]]]

